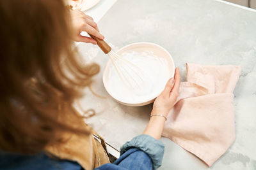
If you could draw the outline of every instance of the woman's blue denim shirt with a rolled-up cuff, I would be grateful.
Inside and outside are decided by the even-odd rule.
[[[156,169],[161,166],[163,153],[163,143],[148,135],[140,135],[122,146],[120,158],[113,164],[104,164],[97,169]],[[38,153],[36,155],[20,155],[17,153],[0,151],[0,169],[79,170],[82,169],[82,167],[77,162],[70,160],[52,159],[45,155],[45,153]]]

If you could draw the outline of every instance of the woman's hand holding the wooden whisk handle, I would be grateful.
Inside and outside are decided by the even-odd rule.
[[[93,36],[104,39],[104,36],[100,34],[97,24],[93,21],[93,18],[89,15],[85,15],[82,11],[72,10],[71,19],[72,26],[74,29],[74,40],[80,41],[84,43],[92,43],[93,45],[97,45],[97,42],[88,36],[81,36],[81,32],[85,31]]]

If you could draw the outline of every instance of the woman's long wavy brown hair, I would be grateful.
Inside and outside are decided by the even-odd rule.
[[[34,153],[61,132],[89,134],[72,107],[97,64],[81,66],[61,0],[0,0],[0,150]]]

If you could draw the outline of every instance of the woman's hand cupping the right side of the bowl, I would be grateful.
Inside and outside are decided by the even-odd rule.
[[[179,68],[175,69],[175,77],[171,78],[163,90],[163,92],[156,98],[153,105],[152,115],[164,115],[167,117],[169,111],[175,104],[177,97],[179,96],[180,87],[180,73]]]

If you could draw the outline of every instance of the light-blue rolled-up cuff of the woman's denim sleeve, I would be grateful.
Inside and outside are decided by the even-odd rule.
[[[120,155],[123,155],[130,148],[138,148],[147,153],[153,162],[153,168],[157,169],[162,165],[164,155],[164,145],[161,141],[152,138],[147,134],[141,134],[134,137],[131,141],[127,141],[120,150]]]

